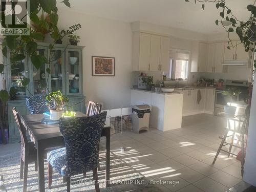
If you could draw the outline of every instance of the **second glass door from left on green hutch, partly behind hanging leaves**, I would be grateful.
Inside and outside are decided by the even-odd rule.
[[[46,56],[46,49],[37,49],[36,50],[38,55],[42,55],[42,56]],[[31,63],[32,65],[32,63]],[[32,65],[33,66],[33,65]],[[36,69],[33,66],[33,93],[35,95],[39,95],[39,94],[45,94],[46,93],[46,64],[44,63],[40,69]]]

